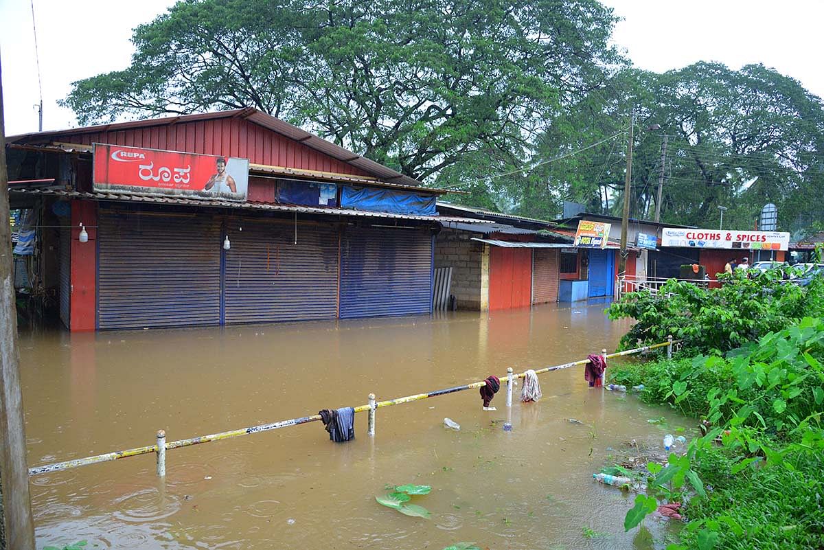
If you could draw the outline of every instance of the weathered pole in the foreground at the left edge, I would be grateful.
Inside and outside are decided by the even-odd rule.
[[[6,126],[0,68],[0,482],[5,528],[3,548],[35,550],[31,520],[26,434],[17,355],[17,312],[12,281],[12,235],[9,226]]]

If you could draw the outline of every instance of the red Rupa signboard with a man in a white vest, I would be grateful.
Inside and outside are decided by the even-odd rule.
[[[248,159],[95,143],[95,191],[245,201],[248,186]]]

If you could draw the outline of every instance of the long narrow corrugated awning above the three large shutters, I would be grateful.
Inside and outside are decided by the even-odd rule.
[[[335,207],[309,207],[297,204],[236,203],[233,201],[212,200],[208,198],[163,197],[156,195],[136,195],[124,193],[84,193],[82,191],[62,191],[56,189],[9,189],[10,194],[46,195],[52,197],[87,198],[98,201],[116,201],[124,203],[174,204],[194,207],[220,207],[246,210],[265,210],[269,212],[299,212],[306,214],[325,214],[329,216],[381,217],[396,220],[438,221],[474,221],[466,217],[419,216],[417,214],[395,214],[392,212],[366,212]]]

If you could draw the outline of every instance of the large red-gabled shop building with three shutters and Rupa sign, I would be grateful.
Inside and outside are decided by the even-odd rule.
[[[435,236],[467,221],[438,215],[445,191],[252,109],[7,143],[32,265],[53,264],[30,291],[73,331],[428,314]]]

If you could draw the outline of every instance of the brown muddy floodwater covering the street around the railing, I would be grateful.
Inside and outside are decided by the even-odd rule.
[[[22,333],[29,464],[152,445],[160,428],[182,439],[612,351],[628,324],[603,308]],[[359,413],[344,444],[311,422],[171,450],[165,483],[153,454],[35,476],[38,548],[652,548],[624,533],[633,496],[592,473],[626,440],[661,445],[649,418],[694,422],[588,389],[581,367],[541,375],[541,388],[541,402],[513,405],[511,432],[502,387],[494,413],[477,390],[378,409],[373,440]],[[387,483],[432,485],[414,497],[432,518],[378,505]],[[668,528],[647,524],[662,547]]]

